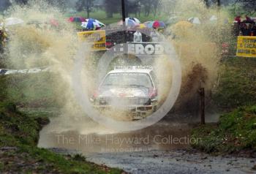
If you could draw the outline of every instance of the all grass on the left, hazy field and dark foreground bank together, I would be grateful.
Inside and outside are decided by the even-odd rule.
[[[50,115],[20,112],[16,105],[60,107],[64,98],[56,97],[61,88],[56,88],[55,80],[49,73],[0,76],[0,173],[122,173],[87,162],[80,155],[37,148],[39,130],[48,124]]]

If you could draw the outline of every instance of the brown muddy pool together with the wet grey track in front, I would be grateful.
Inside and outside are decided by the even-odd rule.
[[[192,125],[161,121],[136,132],[116,133],[86,121],[69,119],[64,124],[59,117],[52,118],[40,132],[39,147],[80,153],[91,162],[128,173],[255,173],[255,159],[191,151]]]

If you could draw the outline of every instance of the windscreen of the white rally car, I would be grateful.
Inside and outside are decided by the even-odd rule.
[[[111,73],[105,77],[102,87],[152,88],[151,78],[146,73]]]

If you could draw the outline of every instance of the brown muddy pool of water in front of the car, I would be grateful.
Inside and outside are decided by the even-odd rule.
[[[92,152],[152,151],[187,148],[191,141],[187,124],[170,124],[159,122],[154,126],[135,132],[116,133],[100,125],[84,129],[65,128],[59,131],[56,118],[40,132],[39,147],[65,148],[80,151],[83,154]],[[75,124],[73,122],[73,124]],[[75,124],[78,125],[78,124]],[[85,124],[88,126],[90,124]]]

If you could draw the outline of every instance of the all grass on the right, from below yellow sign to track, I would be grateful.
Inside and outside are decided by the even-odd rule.
[[[219,69],[219,86],[213,95],[222,112],[218,124],[197,126],[194,148],[206,153],[256,153],[256,59],[229,57]]]

